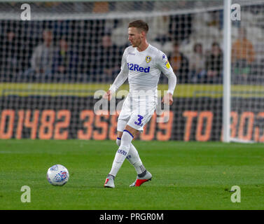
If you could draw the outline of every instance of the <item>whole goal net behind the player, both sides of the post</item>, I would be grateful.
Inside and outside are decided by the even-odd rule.
[[[263,142],[264,0],[232,3],[240,10],[232,10],[230,137]],[[127,25],[141,19],[150,28],[148,42],[167,55],[177,85],[169,120],[157,123],[163,115],[156,111],[138,138],[221,141],[222,0],[21,6],[0,3],[0,139],[116,139],[127,82],[114,105],[107,104],[116,113],[95,113],[101,99],[95,92],[113,83],[130,45]],[[163,74],[158,90],[161,96],[167,90]]]

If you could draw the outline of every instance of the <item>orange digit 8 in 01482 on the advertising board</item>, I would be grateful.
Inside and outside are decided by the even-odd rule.
[[[39,127],[39,139],[51,139],[53,137],[54,122],[55,111],[46,110],[42,112],[41,127]]]

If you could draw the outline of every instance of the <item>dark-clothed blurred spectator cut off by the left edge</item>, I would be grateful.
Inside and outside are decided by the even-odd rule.
[[[19,71],[21,48],[12,29],[0,37],[0,80],[12,81]]]

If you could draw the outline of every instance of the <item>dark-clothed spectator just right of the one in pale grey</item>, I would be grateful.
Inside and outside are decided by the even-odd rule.
[[[53,74],[60,80],[70,80],[78,72],[77,63],[78,56],[69,48],[67,40],[61,38],[53,57]]]

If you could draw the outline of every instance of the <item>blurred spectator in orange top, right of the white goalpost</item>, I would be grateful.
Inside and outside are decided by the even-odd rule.
[[[234,78],[246,80],[251,70],[251,64],[255,59],[253,44],[246,38],[246,29],[239,28],[239,37],[232,44],[232,63],[234,67]]]

